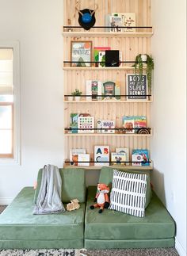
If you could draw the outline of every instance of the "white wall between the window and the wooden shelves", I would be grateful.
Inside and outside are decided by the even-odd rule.
[[[21,166],[0,165],[0,199],[63,165],[62,0],[0,0],[0,40],[20,42]]]

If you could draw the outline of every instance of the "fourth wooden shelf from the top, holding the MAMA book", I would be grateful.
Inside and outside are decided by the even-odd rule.
[[[78,136],[91,136],[91,137],[103,137],[103,136],[116,136],[116,137],[150,137],[152,136],[152,132],[150,134],[138,134],[138,133],[64,133],[64,136],[67,137],[78,137]]]

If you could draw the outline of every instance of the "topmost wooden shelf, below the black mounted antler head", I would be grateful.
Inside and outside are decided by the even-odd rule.
[[[64,37],[151,37],[154,32],[62,32]]]

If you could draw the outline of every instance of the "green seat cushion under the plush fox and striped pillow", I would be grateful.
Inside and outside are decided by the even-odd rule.
[[[153,193],[151,203],[143,218],[123,212],[105,209],[101,214],[98,208],[91,210],[97,187],[89,187],[86,204],[85,239],[170,239],[174,238],[174,220],[162,202]]]

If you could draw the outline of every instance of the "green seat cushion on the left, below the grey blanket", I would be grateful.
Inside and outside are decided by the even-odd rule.
[[[33,197],[34,189],[25,187],[2,212],[0,241],[83,239],[85,204],[72,212],[32,215]]]

